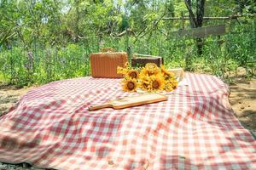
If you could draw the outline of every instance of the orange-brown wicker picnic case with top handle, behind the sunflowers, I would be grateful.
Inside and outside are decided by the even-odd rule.
[[[124,67],[127,62],[125,52],[113,52],[113,48],[102,48],[102,52],[90,54],[91,76],[98,78],[121,78],[117,67]]]

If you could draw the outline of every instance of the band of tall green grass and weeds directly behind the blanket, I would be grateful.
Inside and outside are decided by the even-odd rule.
[[[0,81],[19,86],[44,84],[55,80],[90,75],[90,54],[102,47],[117,51],[160,55],[167,68],[183,67],[187,71],[204,72],[224,77],[227,71],[236,71],[256,56],[256,44],[252,33],[226,35],[225,42],[218,44],[218,37],[207,37],[203,54],[198,56],[195,42],[191,39],[168,39],[160,35],[143,37],[104,37],[103,45],[97,39],[66,45],[47,46],[36,41],[29,52],[22,44],[0,51]],[[130,51],[127,51],[130,48]],[[241,57],[239,57],[241,56]],[[130,56],[131,57],[131,56]],[[252,70],[254,65],[246,65]]]

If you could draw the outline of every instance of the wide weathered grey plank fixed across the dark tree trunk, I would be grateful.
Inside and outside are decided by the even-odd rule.
[[[226,33],[224,25],[207,26],[200,28],[192,28],[190,30],[180,30],[172,32],[175,37],[201,38],[209,36],[222,36]]]

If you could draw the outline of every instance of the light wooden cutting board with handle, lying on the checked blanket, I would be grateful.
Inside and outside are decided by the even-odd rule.
[[[102,105],[91,105],[88,110],[96,111],[103,108],[124,109],[137,105],[146,105],[167,100],[166,95],[162,94],[141,94],[134,97],[126,97],[123,99],[112,99],[108,103]]]

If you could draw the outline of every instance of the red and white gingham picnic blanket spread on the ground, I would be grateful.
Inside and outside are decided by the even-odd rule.
[[[256,141],[229,88],[188,73],[165,102],[88,111],[124,93],[119,79],[50,82],[0,117],[0,161],[55,169],[256,169]]]

